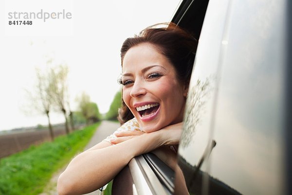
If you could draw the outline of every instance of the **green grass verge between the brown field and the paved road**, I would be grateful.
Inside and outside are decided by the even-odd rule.
[[[0,195],[37,195],[81,151],[100,123],[0,159]]]

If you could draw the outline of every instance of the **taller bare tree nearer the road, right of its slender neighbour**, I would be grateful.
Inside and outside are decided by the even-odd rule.
[[[65,130],[66,134],[69,134],[67,109],[69,102],[68,95],[68,66],[59,65],[55,68],[51,68],[50,76],[52,78],[52,98],[58,111],[62,112],[65,117]]]

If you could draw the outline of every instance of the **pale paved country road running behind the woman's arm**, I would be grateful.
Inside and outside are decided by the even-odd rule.
[[[92,136],[91,140],[89,141],[89,143],[87,144],[84,150],[87,150],[91,148],[92,146],[94,146],[95,144],[101,142],[104,138],[112,134],[119,126],[120,124],[117,122],[111,122],[111,121],[106,121],[106,120],[102,121],[102,123],[100,124],[97,131]],[[54,174],[50,183],[45,188],[44,193],[40,195],[58,195],[56,191],[57,179],[59,175],[65,170],[66,167],[67,165],[63,169],[61,169],[60,171]],[[99,191],[98,192],[95,191],[86,195],[99,195]]]

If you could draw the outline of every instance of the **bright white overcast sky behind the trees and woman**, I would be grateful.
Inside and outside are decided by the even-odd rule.
[[[106,113],[121,86],[120,47],[145,27],[171,20],[180,0],[5,0],[0,1],[0,130],[47,124],[47,118],[25,114],[24,89],[35,83],[35,67],[67,64],[73,110],[82,91]],[[72,13],[70,20],[32,20],[31,26],[8,26],[9,12]],[[62,23],[63,22],[63,23]],[[65,23],[64,23],[65,22]],[[41,26],[42,25],[42,26]],[[1,28],[3,29],[3,28]],[[44,30],[45,29],[45,33]],[[52,122],[63,122],[60,114]]]

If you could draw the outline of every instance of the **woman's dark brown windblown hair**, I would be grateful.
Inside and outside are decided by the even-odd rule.
[[[122,66],[123,59],[131,47],[141,43],[150,43],[156,48],[157,52],[164,55],[174,66],[177,79],[185,85],[188,85],[198,41],[190,33],[176,26],[174,23],[169,23],[167,27],[155,28],[157,25],[161,24],[149,26],[141,31],[139,35],[124,41],[121,48]],[[133,114],[122,99],[122,107],[119,109],[118,117],[120,123],[124,124],[133,117]]]

